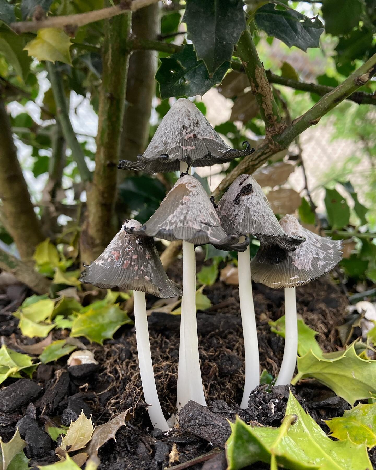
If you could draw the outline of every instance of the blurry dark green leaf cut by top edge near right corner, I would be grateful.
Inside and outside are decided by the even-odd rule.
[[[334,35],[350,32],[360,21],[363,5],[362,0],[323,0],[325,31]]]

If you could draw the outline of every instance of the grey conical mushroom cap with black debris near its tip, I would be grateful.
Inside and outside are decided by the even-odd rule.
[[[231,229],[241,235],[252,234],[284,251],[295,250],[304,242],[299,236],[286,235],[261,186],[251,175],[236,178],[219,201],[217,213],[226,232]]]

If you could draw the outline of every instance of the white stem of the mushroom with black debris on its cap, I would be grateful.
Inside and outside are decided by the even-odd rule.
[[[260,365],[258,358],[258,338],[256,328],[255,308],[253,305],[251,282],[250,246],[247,250],[238,253],[239,269],[239,298],[242,315],[245,381],[241,408],[248,407],[248,400],[252,390],[260,383]]]

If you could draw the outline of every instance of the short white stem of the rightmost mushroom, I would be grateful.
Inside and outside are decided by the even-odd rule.
[[[298,319],[295,287],[285,288],[285,347],[275,385],[289,385],[294,376],[298,355]]]

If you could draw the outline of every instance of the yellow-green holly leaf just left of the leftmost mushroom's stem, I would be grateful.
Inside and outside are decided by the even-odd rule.
[[[132,324],[133,321],[118,305],[90,308],[85,313],[79,313],[73,320],[71,337],[85,336],[89,341],[102,345],[105,339],[112,338],[115,331],[125,323]]]

